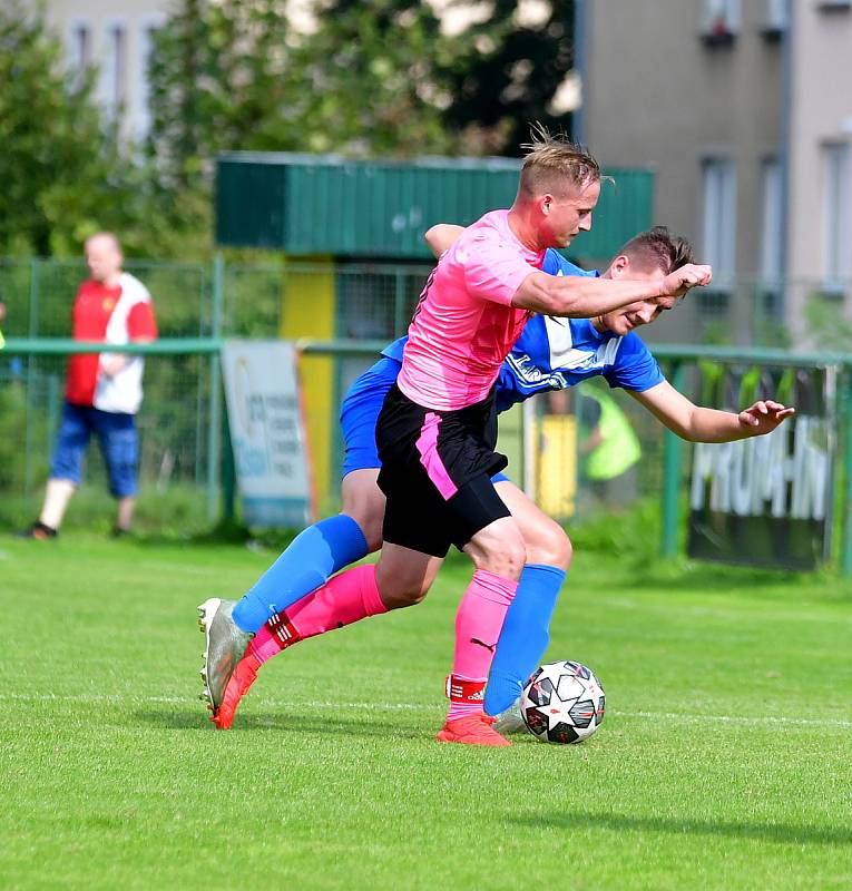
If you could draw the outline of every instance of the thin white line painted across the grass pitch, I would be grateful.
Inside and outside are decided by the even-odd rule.
[[[193,705],[199,709],[199,715],[204,714],[204,707],[196,697],[189,696],[123,696],[120,694],[76,694],[56,695],[52,693],[0,693],[0,702],[68,702],[68,703],[137,703],[160,704],[160,705]],[[273,707],[290,708],[327,708],[327,709],[365,709],[381,712],[440,712],[441,706],[427,705],[423,703],[344,703],[344,702],[319,702],[306,699],[304,702],[255,698],[254,702]],[[775,726],[787,725],[793,727],[849,727],[852,728],[852,721],[841,721],[839,718],[805,718],[787,717],[784,715],[699,715],[685,712],[623,712],[620,709],[609,709],[608,715],[614,717],[636,718],[642,721],[672,721],[680,724],[734,724],[747,726]]]

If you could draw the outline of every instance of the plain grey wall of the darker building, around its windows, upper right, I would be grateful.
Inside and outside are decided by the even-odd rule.
[[[657,172],[655,222],[702,245],[702,161],[731,158],[737,174],[736,273],[760,268],[762,160],[781,139],[781,47],[763,33],[765,3],[743,0],[729,46],[706,46],[701,0],[587,0],[585,140],[605,166]],[[694,336],[697,301],[650,340]],[[747,295],[732,295],[747,326]],[[736,305],[741,301],[741,305]],[[746,339],[745,329],[741,340]]]

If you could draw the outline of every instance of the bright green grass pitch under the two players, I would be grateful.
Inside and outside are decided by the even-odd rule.
[[[273,660],[229,733],[195,606],[273,558],[0,542],[0,888],[852,888],[852,587],[580,554],[579,746],[439,745],[469,577]]]

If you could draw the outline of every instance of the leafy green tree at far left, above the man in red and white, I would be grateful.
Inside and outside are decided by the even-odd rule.
[[[0,253],[76,249],[134,215],[137,172],[91,98],[92,80],[69,77],[40,13],[18,0],[0,6]]]

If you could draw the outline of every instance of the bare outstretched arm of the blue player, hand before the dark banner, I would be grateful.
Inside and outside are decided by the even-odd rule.
[[[747,437],[771,433],[795,409],[785,408],[772,400],[758,401],[740,414],[696,405],[679,393],[668,381],[663,381],[643,393],[629,391],[657,420],[670,431],[689,442],[732,442]]]

